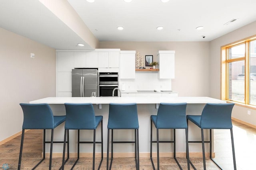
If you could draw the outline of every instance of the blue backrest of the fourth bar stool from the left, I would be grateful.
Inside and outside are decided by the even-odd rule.
[[[158,129],[187,129],[186,103],[160,103],[156,128]]]

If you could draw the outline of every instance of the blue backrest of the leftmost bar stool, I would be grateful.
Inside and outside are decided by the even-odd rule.
[[[24,104],[22,129],[54,129],[52,109],[48,104]]]

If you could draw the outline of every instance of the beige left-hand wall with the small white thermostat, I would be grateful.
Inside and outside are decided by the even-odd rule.
[[[55,49],[0,28],[0,141],[22,130],[19,103],[55,96]],[[35,59],[30,58],[35,54]]]

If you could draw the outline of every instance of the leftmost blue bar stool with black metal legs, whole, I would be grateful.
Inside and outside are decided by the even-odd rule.
[[[53,133],[54,128],[63,123],[66,119],[66,116],[54,116],[52,113],[52,109],[48,104],[23,104],[21,103],[20,106],[23,110],[23,125],[22,125],[22,136],[21,136],[21,143],[20,143],[20,157],[18,163],[18,170],[21,168],[21,157],[22,157],[22,149],[23,149],[23,141],[24,141],[24,132],[25,129],[44,129],[44,151],[43,151],[43,158],[32,170],[34,170],[44,159],[45,159],[45,143],[50,143],[50,163],[49,163],[49,170],[52,169],[52,145],[53,143],[68,143],[69,140],[66,141],[53,141]],[[45,141],[45,129],[52,129],[51,141]],[[69,158],[69,147],[68,147],[68,158]],[[66,159],[66,161],[68,160]],[[66,163],[65,161],[65,163]]]

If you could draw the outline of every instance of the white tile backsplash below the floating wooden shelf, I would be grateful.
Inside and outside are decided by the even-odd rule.
[[[121,79],[125,90],[172,90],[172,79],[158,79],[157,72],[136,72],[135,79]]]

